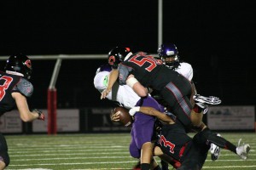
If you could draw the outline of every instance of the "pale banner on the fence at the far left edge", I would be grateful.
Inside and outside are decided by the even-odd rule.
[[[1,133],[21,133],[22,122],[18,111],[9,111],[0,117]]]

